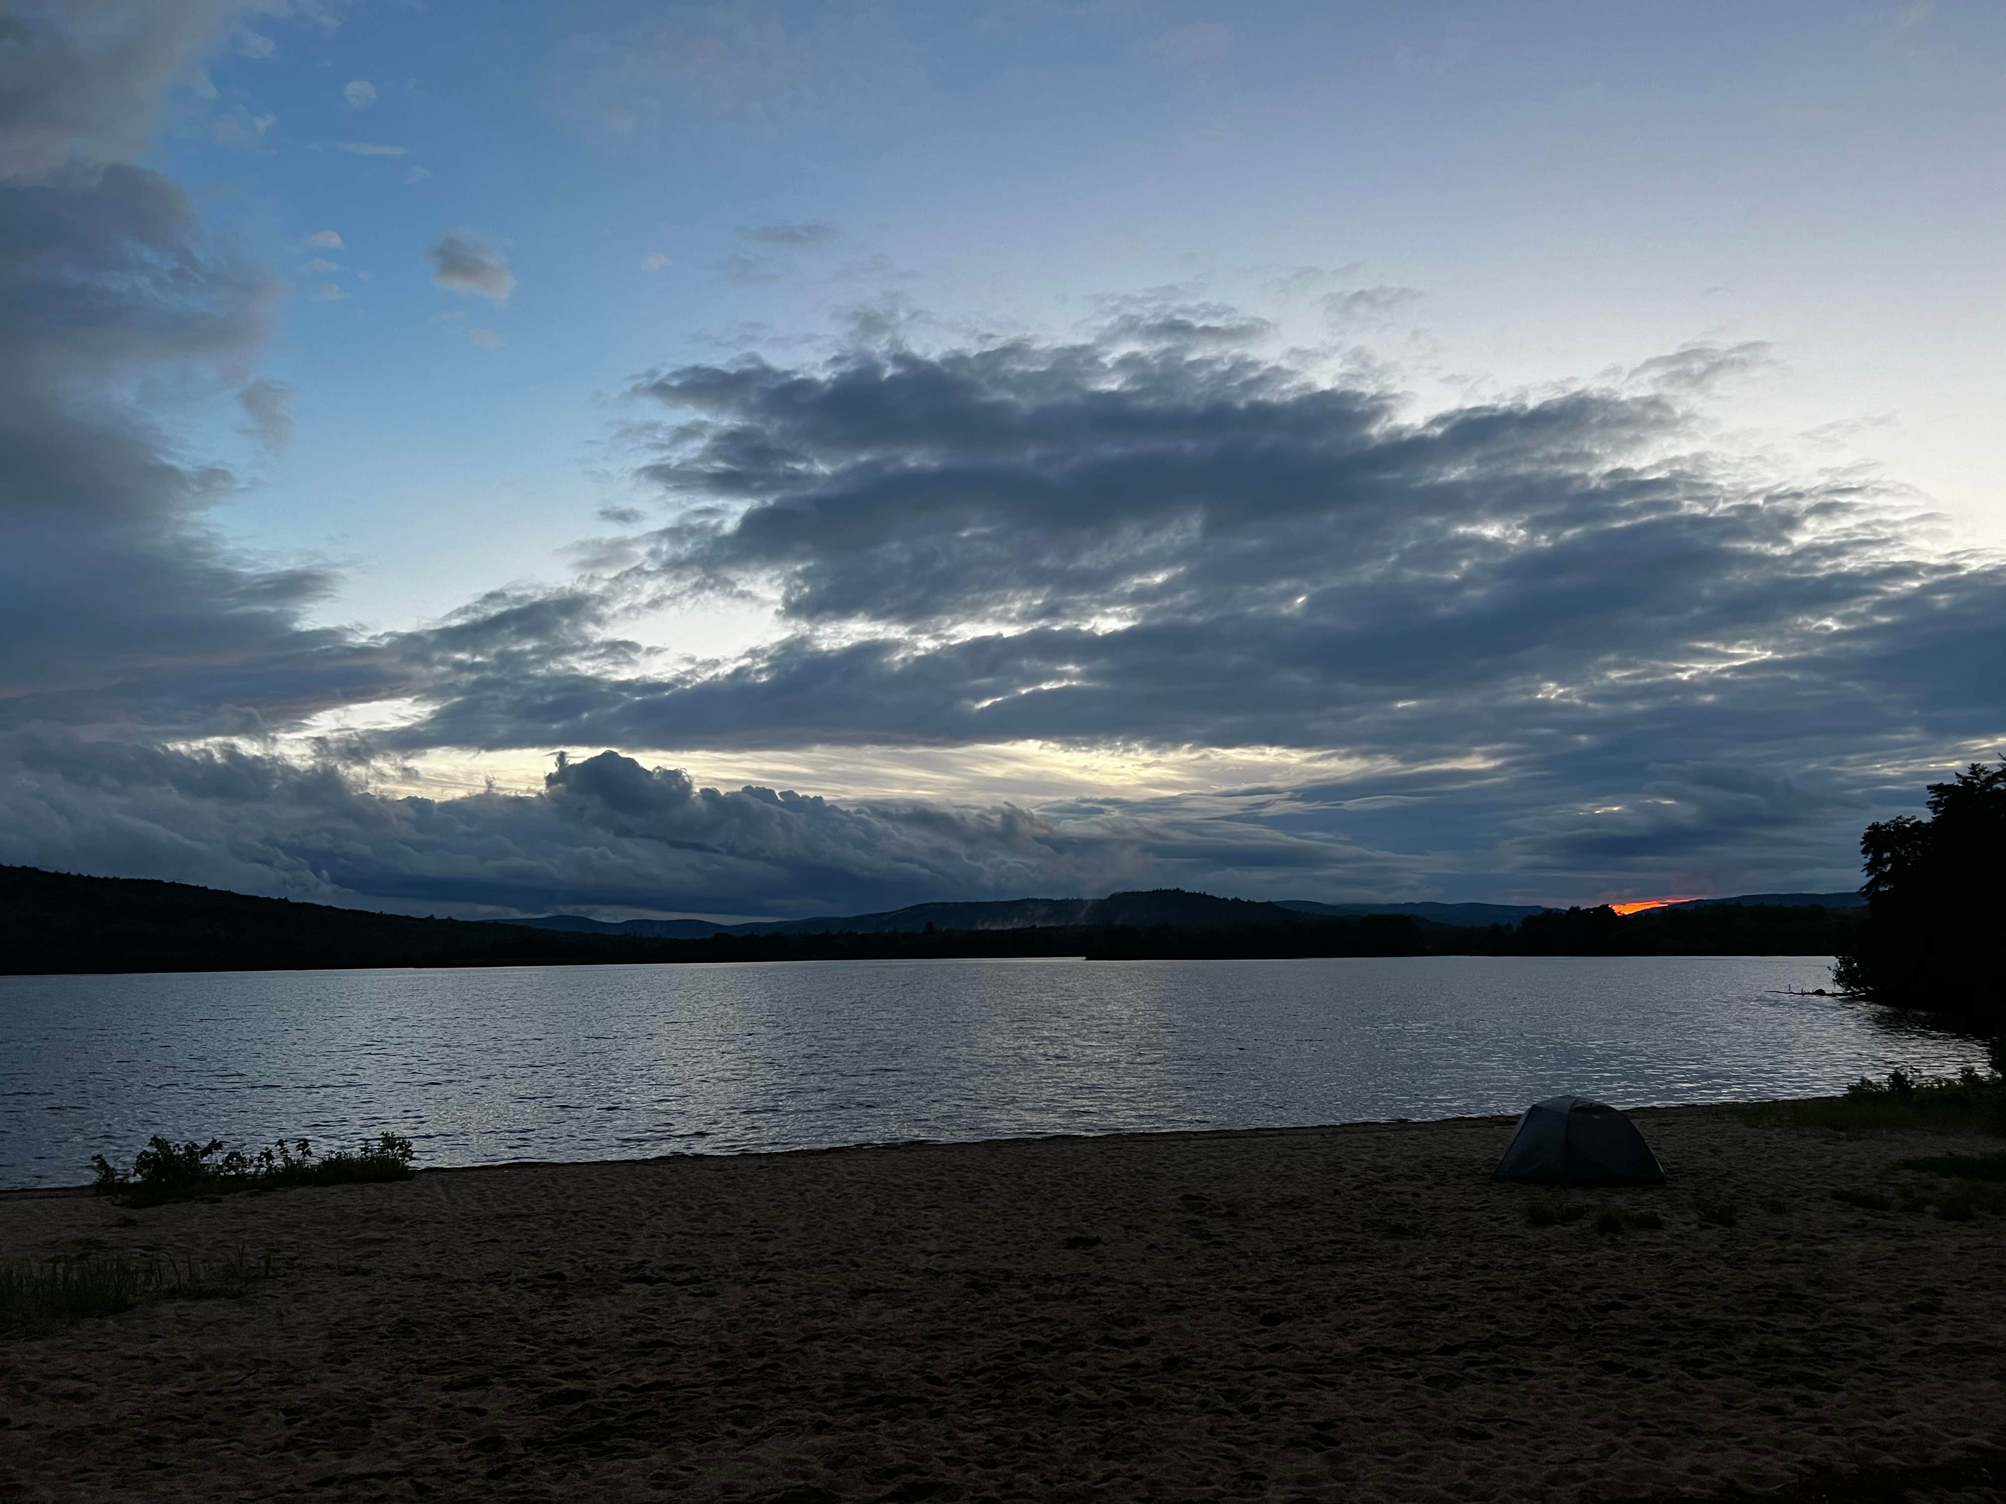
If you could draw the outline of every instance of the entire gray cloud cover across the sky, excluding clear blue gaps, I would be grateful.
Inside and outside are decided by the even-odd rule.
[[[497,910],[1823,886],[1864,820],[2006,734],[2000,559],[1926,549],[1858,477],[1703,453],[1693,403],[1759,351],[1412,417],[1157,295],[1081,343],[660,371],[634,399],[668,521],[600,553],[630,563],[423,632],[305,628],[329,576],[235,557],[209,521],[235,477],[132,397],[229,405],[271,451],[289,431],[255,377],[277,279],[132,160],[231,8],[72,10],[0,26],[4,860]],[[514,287],[467,235],[431,261]],[[704,592],[770,596],[788,634],[652,672],[624,622]],[[1041,740],[1366,772],[951,810],[604,752],[534,794],[399,800],[367,762],[173,746],[393,696],[421,718],[387,756]]]

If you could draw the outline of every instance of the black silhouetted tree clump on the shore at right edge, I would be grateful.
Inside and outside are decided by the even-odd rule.
[[[1868,918],[1835,979],[1876,1003],[2006,1025],[2006,760],[1930,784],[1930,818],[1878,820],[1860,838]]]

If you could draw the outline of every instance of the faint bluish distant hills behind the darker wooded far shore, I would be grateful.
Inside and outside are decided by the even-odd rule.
[[[1665,908],[1703,908],[1711,904],[1751,906],[1821,906],[1860,908],[1858,892],[1751,892],[1737,898],[1687,898]],[[1362,918],[1364,914],[1404,914],[1432,924],[1482,928],[1486,924],[1517,924],[1547,912],[1545,904],[1326,904],[1310,898],[1258,902],[1252,898],[1216,898],[1210,892],[1184,888],[1149,888],[1111,892],[1105,898],[997,898],[989,902],[927,902],[887,908],[875,914],[818,914],[814,918],[776,918],[746,924],[714,924],[706,918],[628,918],[600,920],[584,914],[546,914],[516,920],[532,928],[570,930],[574,934],[628,934],[652,941],[702,941],[712,934],[921,934],[929,924],[937,930],[1021,930],[1041,926],[1184,926],[1232,928],[1238,924],[1286,924],[1298,916]]]

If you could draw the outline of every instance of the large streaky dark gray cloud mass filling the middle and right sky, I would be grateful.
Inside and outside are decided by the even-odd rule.
[[[1404,836],[1300,814],[1527,872],[1844,880],[1882,764],[2002,730],[2006,570],[1858,479],[1699,453],[1689,395],[1761,357],[1418,419],[1176,331],[664,371],[642,475],[680,519],[620,588],[766,590],[794,634],[662,680],[469,658],[403,740],[1462,756]],[[1821,792],[1743,818],[1707,768]]]

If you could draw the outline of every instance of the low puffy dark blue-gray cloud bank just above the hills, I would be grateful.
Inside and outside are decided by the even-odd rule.
[[[0,856],[415,912],[808,914],[941,894],[1105,892],[1320,872],[1350,852],[1260,826],[834,804],[700,788],[602,752],[534,794],[385,798],[329,766],[0,734]],[[1392,864],[1364,866],[1386,882]]]

